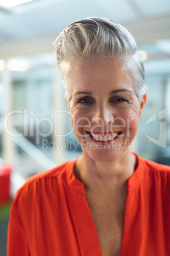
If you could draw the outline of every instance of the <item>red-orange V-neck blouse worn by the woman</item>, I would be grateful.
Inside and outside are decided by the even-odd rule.
[[[128,180],[121,256],[170,255],[170,167],[138,157]],[[75,160],[29,178],[13,201],[8,256],[101,256]]]

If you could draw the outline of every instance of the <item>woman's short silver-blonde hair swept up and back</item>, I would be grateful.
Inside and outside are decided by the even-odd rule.
[[[59,42],[58,42],[59,40]],[[83,18],[70,24],[56,38],[55,55],[69,99],[69,76],[83,60],[117,59],[124,61],[134,79],[138,99],[145,94],[145,71],[136,42],[122,25],[107,18]]]

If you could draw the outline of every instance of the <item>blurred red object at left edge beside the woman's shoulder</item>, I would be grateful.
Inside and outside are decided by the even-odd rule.
[[[0,204],[10,201],[10,173],[11,167],[0,165]]]

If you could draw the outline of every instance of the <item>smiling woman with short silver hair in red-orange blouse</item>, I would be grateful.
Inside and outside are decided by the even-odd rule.
[[[170,168],[129,150],[146,101],[133,36],[95,17],[60,36],[55,53],[82,155],[18,190],[8,256],[170,255]]]

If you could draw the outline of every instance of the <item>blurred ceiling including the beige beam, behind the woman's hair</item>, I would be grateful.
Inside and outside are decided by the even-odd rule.
[[[60,31],[91,16],[124,25],[148,60],[170,61],[169,0],[34,0],[13,8],[0,6],[0,59],[51,53]]]

